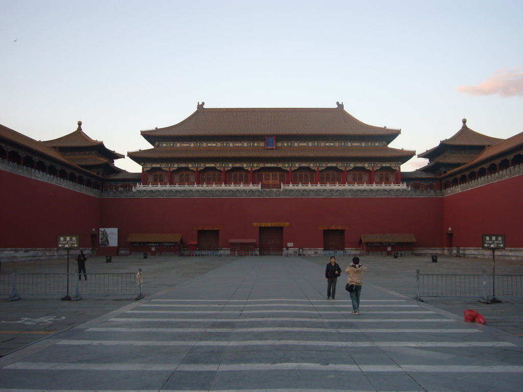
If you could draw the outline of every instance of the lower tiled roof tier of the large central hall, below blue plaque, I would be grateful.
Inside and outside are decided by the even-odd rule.
[[[414,151],[390,147],[205,147],[205,148],[151,148],[129,152],[131,158],[188,159],[188,158],[395,158],[410,159]]]

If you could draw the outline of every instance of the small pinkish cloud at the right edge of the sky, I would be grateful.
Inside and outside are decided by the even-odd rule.
[[[500,70],[477,86],[460,86],[460,93],[472,95],[494,95],[503,97],[523,95],[523,73],[521,68],[515,70]]]

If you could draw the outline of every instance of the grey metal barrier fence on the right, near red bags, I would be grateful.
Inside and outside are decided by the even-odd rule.
[[[493,297],[523,297],[521,274],[435,274],[416,270],[416,297],[476,297],[484,302]]]

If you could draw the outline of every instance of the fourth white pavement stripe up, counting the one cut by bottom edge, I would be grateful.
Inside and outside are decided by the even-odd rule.
[[[292,327],[259,327],[259,328],[119,328],[119,327],[93,327],[86,332],[325,332],[325,333],[481,333],[479,329],[451,329],[451,328],[292,328]]]

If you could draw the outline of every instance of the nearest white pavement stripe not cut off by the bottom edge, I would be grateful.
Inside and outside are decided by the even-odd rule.
[[[151,363],[56,363],[15,362],[6,370],[50,371],[166,371],[166,372],[237,372],[237,371],[343,371],[343,372],[419,372],[419,373],[523,373],[523,366],[475,365],[349,365],[318,363],[249,363],[249,364],[151,364]]]

